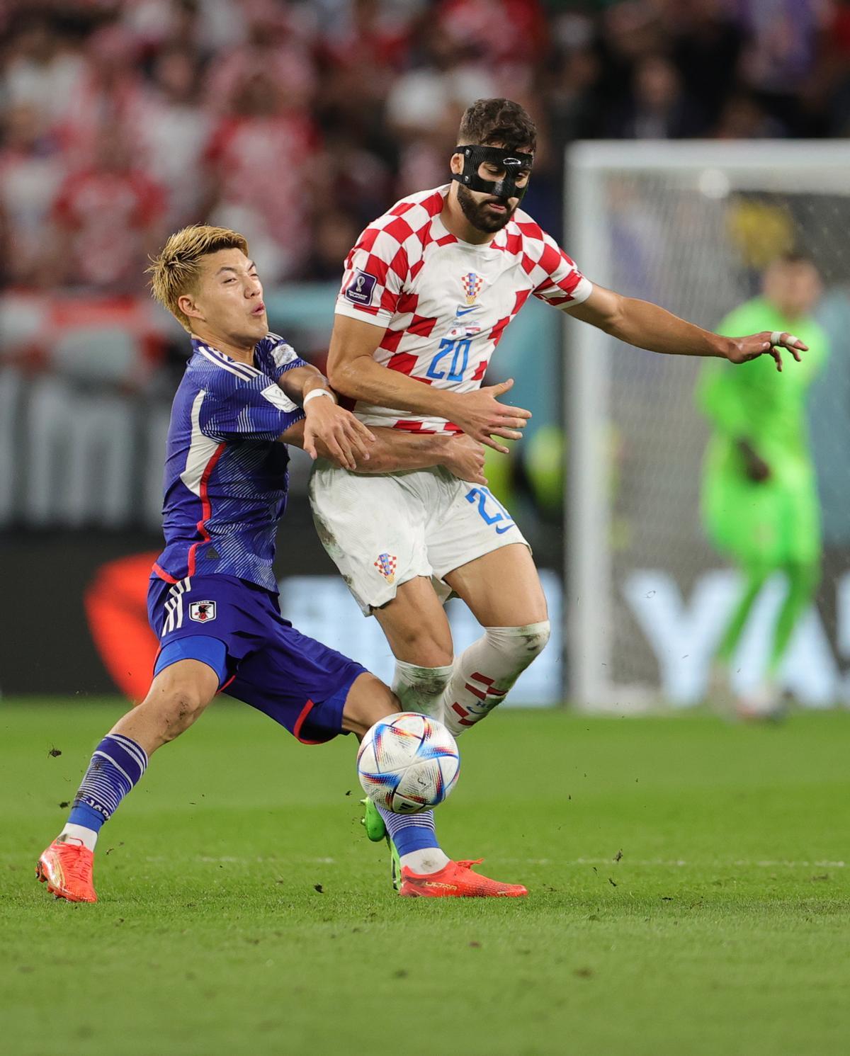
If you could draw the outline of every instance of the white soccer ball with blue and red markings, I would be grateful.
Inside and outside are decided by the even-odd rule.
[[[396,814],[417,814],[442,803],[459,770],[454,737],[441,722],[418,712],[376,722],[357,753],[363,791]]]

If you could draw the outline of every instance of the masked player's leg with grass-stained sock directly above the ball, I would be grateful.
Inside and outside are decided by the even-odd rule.
[[[415,576],[398,587],[395,598],[373,611],[396,658],[393,692],[402,709],[441,718],[454,646],[431,580]]]

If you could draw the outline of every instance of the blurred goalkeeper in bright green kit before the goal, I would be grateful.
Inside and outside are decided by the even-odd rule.
[[[781,375],[766,358],[736,366],[706,362],[697,390],[713,435],[705,454],[702,513],[709,538],[744,574],[744,585],[715,657],[713,682],[729,685],[731,664],[753,604],[774,572],[788,588],[771,643],[764,679],[738,700],[741,716],[779,712],[777,674],[792,631],[820,578],[820,516],[809,450],[806,397],[829,353],[810,315],[820,297],[814,264],[787,254],[764,272],[763,293],[731,312],[721,334],[789,331],[809,345],[795,370]]]

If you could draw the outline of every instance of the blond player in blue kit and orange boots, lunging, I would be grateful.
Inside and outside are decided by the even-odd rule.
[[[55,895],[95,902],[102,824],[136,785],[151,753],[187,730],[219,692],[269,715],[304,743],[361,736],[398,699],[354,660],[299,634],[280,614],[275,535],[286,507],[287,444],[358,472],[442,466],[481,482],[472,440],[370,430],[337,404],[326,379],[268,333],[263,289],[242,235],[197,225],[173,234],[151,267],[154,297],[192,338],[174,397],[165,468],[166,546],[153,566],[148,615],[159,638],[151,687],[97,746],[68,824],[41,854]],[[386,813],[410,849],[401,893],[435,892],[435,857],[455,894],[525,894],[450,863],[433,814]]]

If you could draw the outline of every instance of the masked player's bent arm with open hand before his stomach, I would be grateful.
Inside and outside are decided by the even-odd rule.
[[[383,334],[383,326],[350,316],[335,317],[327,373],[337,392],[378,407],[413,411],[423,417],[446,418],[478,444],[507,454],[508,449],[492,437],[520,439],[523,435],[520,430],[531,417],[530,411],[498,402],[497,397],[511,388],[512,380],[471,393],[424,385],[416,378],[391,371],[375,361],[373,357]]]

